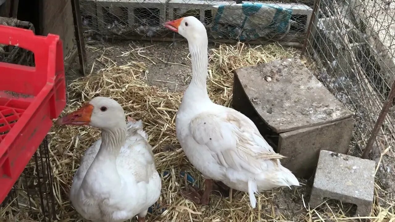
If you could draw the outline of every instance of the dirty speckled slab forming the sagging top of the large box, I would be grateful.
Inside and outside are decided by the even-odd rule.
[[[235,75],[257,113],[276,133],[353,115],[299,58],[243,67],[235,70]]]

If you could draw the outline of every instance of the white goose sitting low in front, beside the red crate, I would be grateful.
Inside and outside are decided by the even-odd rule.
[[[85,151],[70,190],[71,204],[93,222],[144,222],[161,190],[152,147],[141,120],[128,117],[115,100],[96,97],[56,120],[57,125],[89,125],[102,139]]]

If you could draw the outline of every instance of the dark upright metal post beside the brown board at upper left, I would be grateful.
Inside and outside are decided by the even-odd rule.
[[[87,64],[87,52],[85,51],[84,35],[82,32],[81,10],[79,8],[79,0],[71,0],[71,8],[73,10],[74,34],[77,42],[79,65],[81,74],[85,76],[85,64]]]

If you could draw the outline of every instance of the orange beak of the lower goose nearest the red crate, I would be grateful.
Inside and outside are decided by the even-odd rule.
[[[89,103],[85,103],[81,108],[78,110],[69,113],[66,116],[63,116],[56,120],[55,125],[62,126],[62,125],[88,125],[90,123],[90,116],[92,115],[93,105]]]

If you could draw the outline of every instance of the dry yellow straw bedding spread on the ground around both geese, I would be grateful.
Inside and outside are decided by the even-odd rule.
[[[230,105],[232,96],[233,73],[235,68],[254,65],[272,60],[289,58],[296,51],[284,49],[279,45],[250,47],[239,43],[236,46],[220,45],[210,51],[208,87],[210,97],[222,105]],[[111,64],[111,63],[110,63]],[[145,130],[155,153],[158,172],[162,177],[162,195],[160,207],[154,209],[147,221],[156,222],[253,222],[253,221],[360,221],[357,217],[347,218],[351,207],[339,207],[339,203],[325,201],[320,207],[309,209],[307,200],[309,188],[278,188],[262,192],[258,198],[258,207],[251,209],[248,195],[232,191],[230,198],[211,196],[209,206],[196,206],[180,194],[186,180],[179,175],[186,171],[192,175],[199,186],[203,179],[189,164],[175,136],[175,114],[181,102],[182,92],[167,92],[145,84],[144,63],[131,62],[128,65],[105,67],[98,73],[74,81],[68,88],[68,105],[65,113],[76,109],[83,102],[95,96],[108,96],[117,100],[127,114],[135,119],[143,119]],[[54,127],[51,133],[51,163],[55,176],[56,213],[59,221],[84,221],[70,206],[68,193],[71,180],[78,168],[81,155],[90,144],[99,137],[97,129],[90,127]],[[29,166],[34,167],[34,166]],[[305,182],[305,181],[302,181]],[[376,204],[380,188],[376,186]],[[374,205],[371,221],[392,221],[394,211],[387,203],[386,207]],[[36,211],[40,211],[39,209]],[[14,221],[34,221],[37,215],[26,211],[17,213],[11,208],[0,211],[0,221],[9,221],[10,213],[17,218]],[[390,219],[392,218],[392,219]]]

